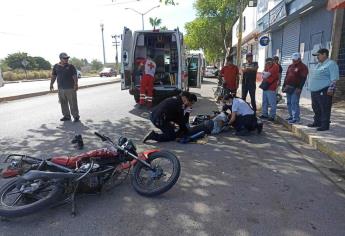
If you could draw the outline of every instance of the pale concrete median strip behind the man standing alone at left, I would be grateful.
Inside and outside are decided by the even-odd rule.
[[[120,77],[90,77],[79,79],[79,89],[89,88],[99,85],[112,84],[120,82]],[[41,96],[48,93],[50,80],[39,81],[21,81],[16,83],[7,83],[0,87],[0,102],[12,101],[17,99]],[[54,92],[57,92],[57,84],[54,84]]]

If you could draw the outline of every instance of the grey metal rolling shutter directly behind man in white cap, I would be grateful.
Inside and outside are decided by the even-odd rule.
[[[281,65],[283,67],[282,80],[285,78],[288,66],[292,63],[291,54],[294,52],[299,52],[300,26],[301,21],[300,19],[297,19],[286,24],[283,29],[283,46],[281,56]]]

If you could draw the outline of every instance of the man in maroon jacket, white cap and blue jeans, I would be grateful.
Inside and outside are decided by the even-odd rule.
[[[301,61],[301,54],[296,52],[292,56],[292,64],[289,65],[283,84],[283,92],[286,93],[290,124],[299,123],[300,108],[299,99],[308,76],[308,67]]]

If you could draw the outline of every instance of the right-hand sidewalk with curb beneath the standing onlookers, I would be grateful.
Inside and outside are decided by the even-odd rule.
[[[262,104],[262,90],[256,90],[256,102],[258,107]],[[247,100],[249,99],[249,95]],[[290,125],[285,118],[288,117],[286,107],[286,97],[284,94],[284,103],[277,106],[277,122],[287,127],[295,136],[311,144],[319,151],[327,154],[337,163],[345,167],[345,102],[333,104],[331,114],[330,130],[318,132],[315,128],[307,127],[307,124],[313,123],[314,112],[311,108],[309,99],[301,99],[301,124]],[[258,113],[260,115],[260,112]]]

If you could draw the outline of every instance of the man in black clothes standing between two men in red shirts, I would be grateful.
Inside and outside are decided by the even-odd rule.
[[[258,63],[253,61],[251,52],[246,55],[247,63],[242,68],[242,99],[246,100],[249,92],[250,102],[254,112],[256,112],[255,90],[256,90],[256,72],[258,71]]]

